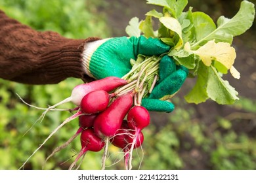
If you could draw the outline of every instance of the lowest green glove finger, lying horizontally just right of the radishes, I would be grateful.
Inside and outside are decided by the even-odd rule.
[[[141,105],[148,111],[156,112],[172,112],[174,110],[173,103],[169,101],[160,101],[159,99],[142,99]]]

